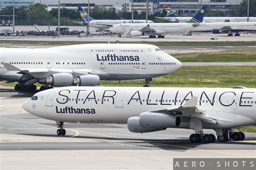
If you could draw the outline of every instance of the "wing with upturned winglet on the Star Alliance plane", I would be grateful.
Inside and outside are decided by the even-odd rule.
[[[167,108],[167,109],[160,109],[160,110],[151,110],[151,112],[157,112],[157,113],[164,113],[164,114],[170,114],[173,116],[184,116],[184,117],[190,117],[190,118],[197,118],[201,121],[216,124],[217,119],[214,119],[206,114],[205,110],[200,109],[197,106],[198,97],[192,97],[189,101],[187,101],[185,104]]]

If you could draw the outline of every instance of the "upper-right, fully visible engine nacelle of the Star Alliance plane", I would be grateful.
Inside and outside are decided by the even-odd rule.
[[[139,115],[139,124],[143,128],[152,129],[176,128],[180,125],[180,118],[168,114],[143,112]]]

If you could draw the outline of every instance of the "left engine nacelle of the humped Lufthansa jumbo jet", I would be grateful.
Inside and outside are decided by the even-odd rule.
[[[38,82],[41,84],[48,84],[53,87],[72,86],[73,76],[70,73],[56,73],[49,77],[39,79]]]

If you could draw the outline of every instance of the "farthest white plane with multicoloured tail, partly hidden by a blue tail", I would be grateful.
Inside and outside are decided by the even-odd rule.
[[[165,17],[156,17],[159,19],[169,20],[173,23],[187,22],[191,17],[178,17],[167,4],[162,4],[163,9],[167,12]],[[226,23],[226,22],[247,22],[247,17],[204,17],[204,23]],[[256,17],[250,17],[249,22],[256,22]]]

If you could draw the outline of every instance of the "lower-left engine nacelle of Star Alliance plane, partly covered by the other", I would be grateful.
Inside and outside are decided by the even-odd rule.
[[[133,133],[155,132],[155,131],[166,129],[166,128],[163,128],[163,129],[143,128],[139,124],[139,117],[130,117],[127,121],[127,127],[129,131]]]

